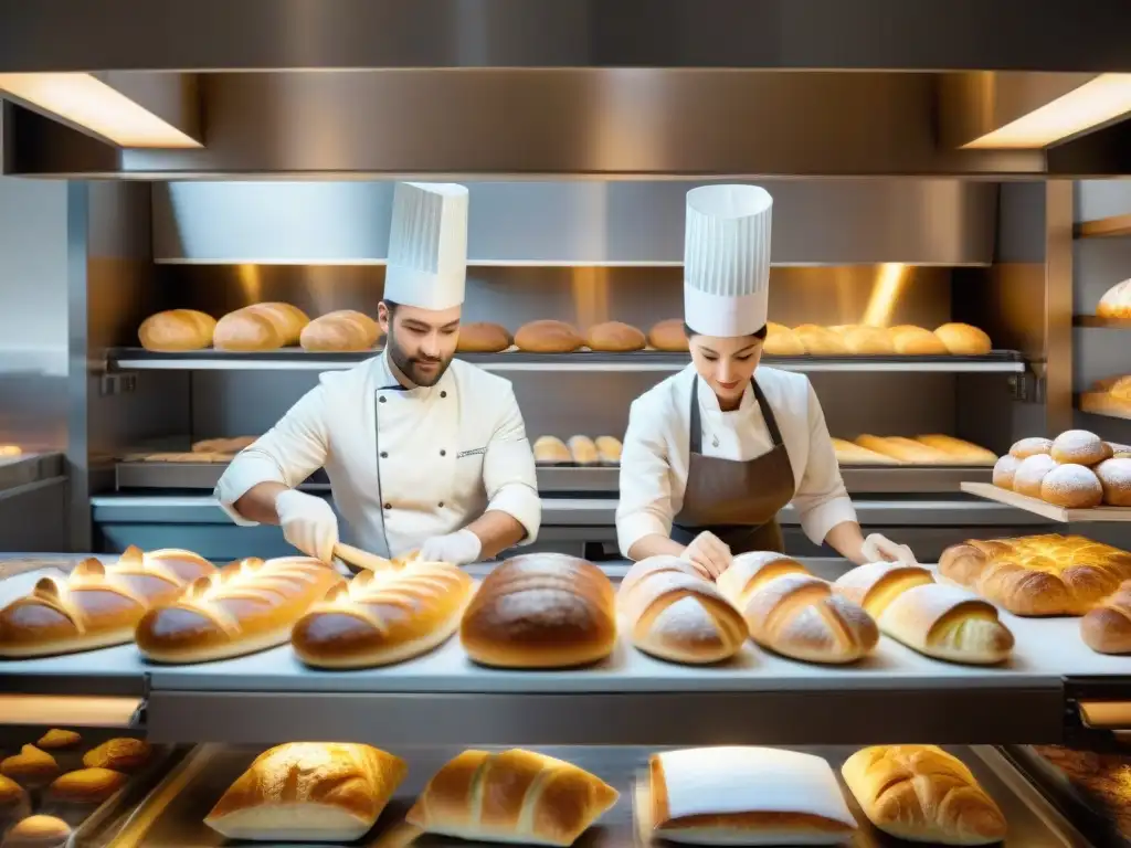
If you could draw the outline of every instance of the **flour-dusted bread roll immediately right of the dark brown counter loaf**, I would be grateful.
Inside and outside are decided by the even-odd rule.
[[[746,624],[687,560],[649,556],[621,581],[618,607],[632,643],[673,663],[720,663],[746,641]]]

